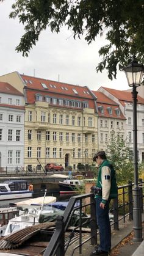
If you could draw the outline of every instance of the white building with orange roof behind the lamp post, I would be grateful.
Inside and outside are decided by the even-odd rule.
[[[120,106],[120,110],[126,117],[126,138],[131,143],[131,151],[133,152],[133,104],[132,93],[127,91],[109,89],[100,87],[98,92],[104,93],[111,100]],[[137,95],[137,150],[138,158],[144,161],[144,100]]]

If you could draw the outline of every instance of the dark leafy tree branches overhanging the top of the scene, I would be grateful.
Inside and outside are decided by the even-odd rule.
[[[46,27],[58,33],[67,26],[74,38],[84,35],[88,44],[98,35],[106,36],[108,43],[99,49],[102,61],[96,71],[106,68],[110,79],[132,55],[144,60],[143,0],[16,0],[12,9],[10,18],[18,17],[26,31],[16,47],[23,56],[28,56]]]

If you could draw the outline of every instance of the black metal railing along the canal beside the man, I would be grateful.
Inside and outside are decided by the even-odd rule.
[[[144,181],[140,181],[143,185]],[[129,221],[132,221],[132,184],[129,182],[128,185],[119,186],[118,187],[118,198],[113,199],[113,204],[110,208],[110,213],[113,214],[113,221],[111,222],[111,226],[113,226],[114,230],[119,229],[119,222],[123,220],[126,221],[126,217],[128,216]],[[140,205],[143,212],[143,191],[142,186],[140,186]],[[89,202],[87,202],[89,200]],[[76,203],[79,202],[79,205],[76,206]],[[82,221],[82,211],[89,208],[90,210],[90,218],[87,221]],[[75,211],[79,210],[79,224],[73,228],[73,231],[69,236],[66,237],[65,232],[68,229],[68,225],[70,224],[71,218]],[[84,224],[90,225],[90,235],[87,239],[82,239],[82,227]],[[77,236],[78,232],[78,236]],[[79,247],[79,254],[82,253],[82,245],[90,241],[92,245],[97,244],[97,236],[99,231],[97,230],[96,224],[96,206],[95,206],[95,195],[93,193],[90,194],[82,194],[79,196],[71,197],[68,206],[65,209],[63,216],[57,217],[56,222],[56,230],[52,235],[51,240],[49,241],[48,247],[43,254],[43,256],[64,256],[68,246],[74,240],[74,235],[76,234],[75,241],[79,243],[73,247],[73,252],[71,256],[74,254],[74,251]]]

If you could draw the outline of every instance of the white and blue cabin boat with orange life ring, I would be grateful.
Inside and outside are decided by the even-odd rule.
[[[32,197],[33,186],[27,180],[7,180],[0,183],[0,200]]]

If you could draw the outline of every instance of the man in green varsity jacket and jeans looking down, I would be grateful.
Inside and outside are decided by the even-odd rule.
[[[100,244],[90,256],[107,256],[111,247],[111,230],[109,221],[110,199],[118,196],[115,170],[107,161],[106,153],[99,151],[93,157],[99,166],[98,181],[96,185],[96,218],[99,227]]]

